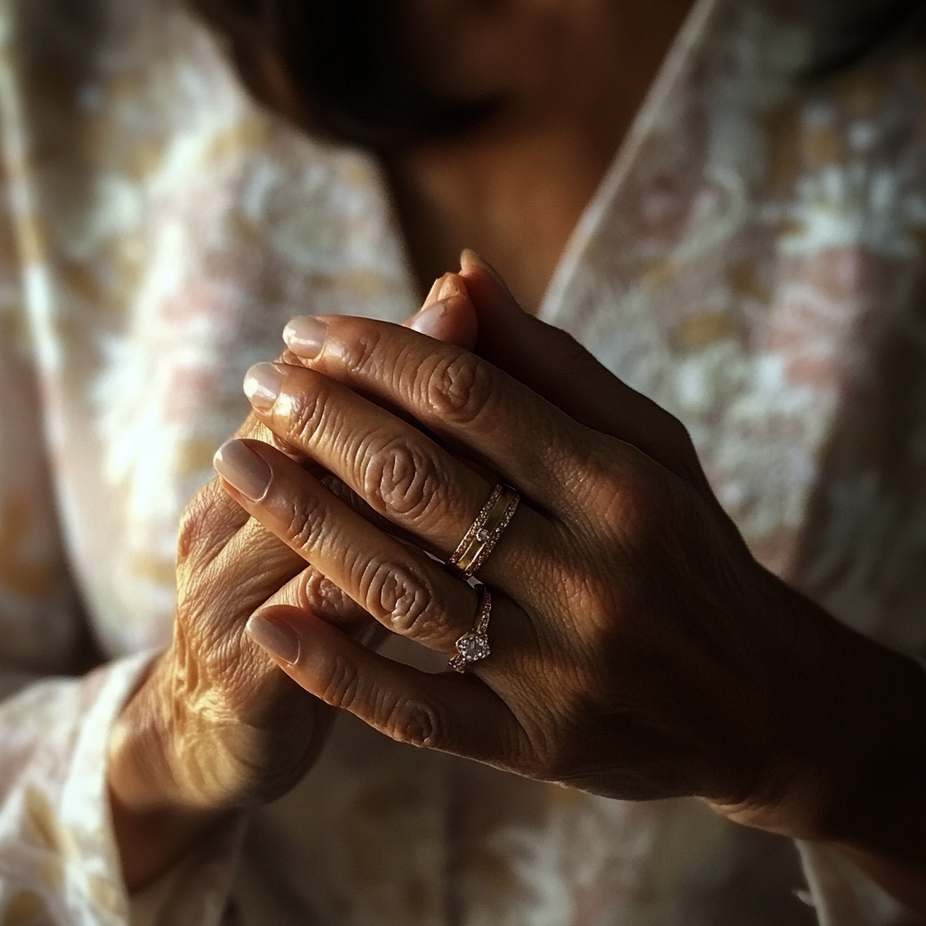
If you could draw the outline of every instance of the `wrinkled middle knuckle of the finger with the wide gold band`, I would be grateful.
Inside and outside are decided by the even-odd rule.
[[[368,498],[377,498],[392,514],[419,518],[443,494],[444,480],[429,455],[401,441],[392,441],[369,455],[364,473]]]

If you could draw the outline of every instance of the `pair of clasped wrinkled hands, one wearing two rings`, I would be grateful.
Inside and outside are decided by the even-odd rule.
[[[926,906],[920,667],[763,569],[682,425],[494,271],[465,255],[435,288],[407,327],[295,319],[249,372],[253,415],[181,526],[173,644],[113,736],[130,885],[289,790],[332,706],[519,775],[829,840]],[[392,632],[454,656],[479,596],[443,561],[498,482],[522,501],[478,574],[491,654],[459,675],[377,652]]]

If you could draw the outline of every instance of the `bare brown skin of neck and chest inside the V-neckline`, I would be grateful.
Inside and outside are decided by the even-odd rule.
[[[479,131],[383,153],[422,284],[475,248],[535,312],[692,0],[407,0],[412,59]]]

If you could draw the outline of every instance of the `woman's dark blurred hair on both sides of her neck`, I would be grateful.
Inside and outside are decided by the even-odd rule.
[[[468,131],[497,106],[433,93],[403,44],[398,0],[188,2],[224,38],[251,93],[315,134],[382,151]],[[926,0],[875,0],[855,16],[844,0],[815,6],[823,12],[810,80],[903,39],[926,12]]]

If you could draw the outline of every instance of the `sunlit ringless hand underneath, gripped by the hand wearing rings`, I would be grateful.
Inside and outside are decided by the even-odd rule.
[[[442,337],[472,346],[476,319],[456,294],[452,283],[435,285],[429,300],[439,305],[432,316]],[[294,466],[307,465],[253,416],[238,436],[275,443]],[[314,471],[332,491],[344,492]],[[359,499],[351,503],[363,509]],[[250,519],[218,480],[184,513],[177,585],[173,642],[123,711],[110,746],[111,806],[130,889],[168,868],[229,809],[284,794],[324,745],[332,709],[287,678],[244,633],[252,612],[268,601],[296,607],[368,645],[385,633]]]

